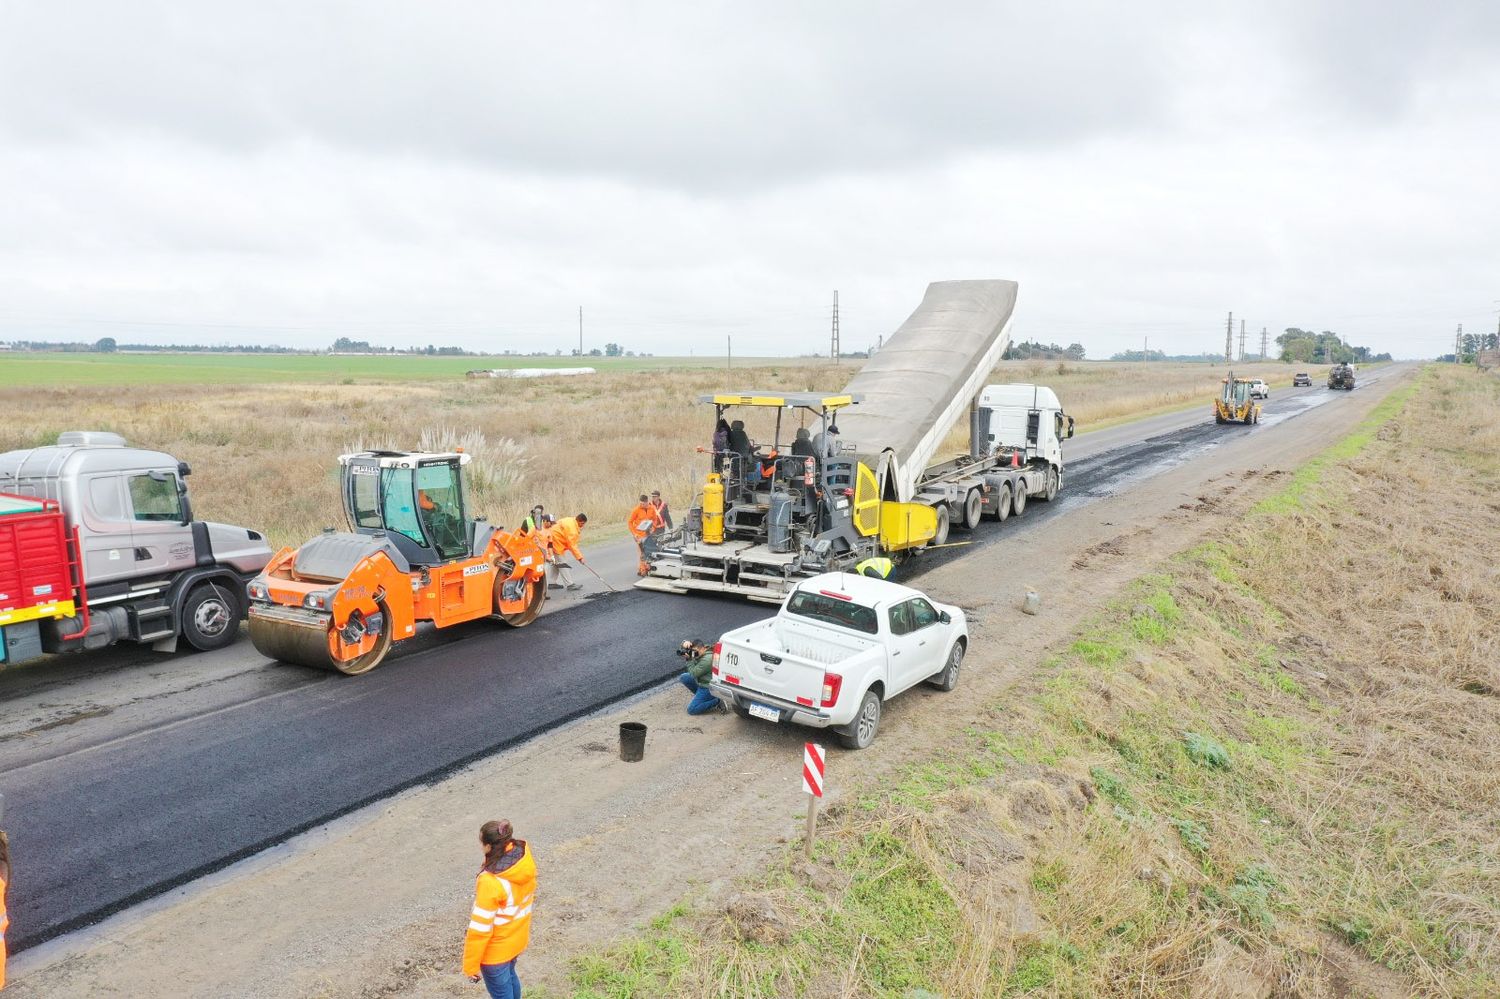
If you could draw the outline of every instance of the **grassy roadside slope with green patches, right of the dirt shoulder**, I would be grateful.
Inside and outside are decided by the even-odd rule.
[[[814,864],[572,994],[1496,994],[1497,406],[1430,369],[838,808]]]

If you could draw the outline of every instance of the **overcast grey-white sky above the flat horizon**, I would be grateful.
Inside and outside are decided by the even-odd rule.
[[[1436,356],[1497,124],[1494,2],[0,0],[0,339]]]

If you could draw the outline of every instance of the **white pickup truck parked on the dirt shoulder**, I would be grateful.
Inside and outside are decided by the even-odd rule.
[[[788,594],[774,618],[714,646],[710,690],[740,717],[831,728],[864,748],[880,705],[927,681],[958,684],[969,646],[963,610],[884,579],[825,573]]]

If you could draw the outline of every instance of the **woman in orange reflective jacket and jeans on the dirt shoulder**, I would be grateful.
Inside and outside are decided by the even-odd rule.
[[[525,840],[514,838],[507,819],[478,828],[484,850],[474,885],[474,909],[464,934],[464,974],[484,981],[490,999],[520,999],[516,958],[531,942],[531,898],[537,864]]]

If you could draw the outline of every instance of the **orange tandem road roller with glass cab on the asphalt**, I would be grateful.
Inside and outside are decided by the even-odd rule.
[[[262,656],[346,675],[375,669],[417,632],[498,616],[524,627],[546,600],[534,534],[466,518],[462,452],[339,456],[350,531],[284,548],[250,580]]]

